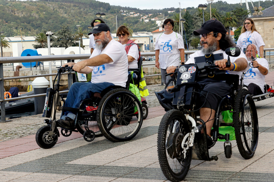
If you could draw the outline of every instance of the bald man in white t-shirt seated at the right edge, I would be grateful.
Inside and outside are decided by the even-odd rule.
[[[265,92],[265,75],[268,74],[269,66],[265,58],[257,58],[258,51],[254,44],[249,44],[246,48],[245,55],[250,64],[248,72],[244,74],[244,86],[254,95],[261,95]],[[252,61],[252,58],[255,60]]]

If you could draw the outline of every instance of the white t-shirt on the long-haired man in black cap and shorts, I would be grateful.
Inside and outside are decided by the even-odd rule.
[[[228,55],[226,54],[225,51],[223,51],[222,49],[218,50],[218,51],[214,51],[213,54],[219,54],[219,53],[223,53],[223,59],[227,59],[228,58]],[[202,53],[202,51],[197,51],[193,54],[191,54],[189,56],[189,59],[187,62],[185,62],[185,64],[195,64],[195,60],[194,58],[195,57],[198,57],[198,56],[204,56],[205,54]],[[230,62],[235,62],[236,59],[239,59],[239,58],[244,58],[246,59],[246,56],[243,52],[241,52],[240,56],[238,57],[232,57],[232,56],[229,56],[230,57]],[[246,67],[246,69],[242,70],[242,71],[230,71],[230,70],[226,70],[226,73],[227,74],[235,74],[235,75],[239,75],[239,80],[241,79],[241,76],[242,76],[242,73],[243,72],[247,72],[248,71],[248,66]]]

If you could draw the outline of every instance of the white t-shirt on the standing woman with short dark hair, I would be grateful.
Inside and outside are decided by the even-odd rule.
[[[160,50],[160,68],[167,69],[169,66],[179,66],[180,51],[184,49],[184,40],[180,34],[160,34],[155,43],[155,50]]]

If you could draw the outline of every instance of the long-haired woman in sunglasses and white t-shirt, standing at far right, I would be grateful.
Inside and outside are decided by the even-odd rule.
[[[256,45],[256,48],[258,50],[258,56],[263,58],[265,43],[262,39],[262,36],[256,30],[255,24],[251,18],[247,18],[244,20],[241,35],[239,36],[237,41],[237,46],[239,46],[244,53],[248,44]]]

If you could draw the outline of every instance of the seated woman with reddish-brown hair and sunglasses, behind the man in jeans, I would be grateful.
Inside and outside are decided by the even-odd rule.
[[[138,68],[138,59],[140,58],[139,46],[129,39],[130,32],[128,27],[121,25],[116,32],[119,41],[124,46],[128,55],[128,68]],[[136,75],[134,75],[136,76]]]

